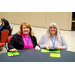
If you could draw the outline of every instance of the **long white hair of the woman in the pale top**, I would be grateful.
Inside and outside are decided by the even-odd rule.
[[[57,40],[58,40],[59,43],[61,44],[61,39],[60,39],[60,35],[59,35],[59,34],[60,34],[60,31],[59,31],[59,28],[58,28],[58,26],[57,26],[57,24],[56,24],[55,22],[50,23],[50,25],[49,25],[49,27],[48,27],[48,30],[47,30],[49,44],[51,44],[51,43],[50,43],[50,42],[51,42],[51,39],[50,39],[50,27],[51,27],[52,25],[57,29]]]

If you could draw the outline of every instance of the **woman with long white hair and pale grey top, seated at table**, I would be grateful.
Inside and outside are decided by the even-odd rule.
[[[52,22],[47,30],[47,33],[43,34],[39,46],[41,48],[50,49],[60,49],[67,50],[67,43],[65,38],[59,32],[59,28],[56,23]]]

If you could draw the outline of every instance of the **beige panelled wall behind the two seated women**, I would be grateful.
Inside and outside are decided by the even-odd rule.
[[[13,24],[26,21],[38,27],[48,27],[56,22],[60,29],[71,30],[72,12],[0,12],[0,18]]]

